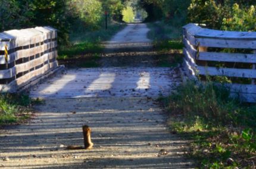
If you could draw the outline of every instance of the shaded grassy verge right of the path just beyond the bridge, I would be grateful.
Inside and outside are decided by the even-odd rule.
[[[163,21],[148,23],[148,38],[154,40],[154,48],[158,52],[155,60],[159,67],[176,67],[182,63],[182,29]]]

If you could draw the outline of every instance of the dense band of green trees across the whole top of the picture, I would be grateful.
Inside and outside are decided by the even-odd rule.
[[[60,42],[67,43],[73,30],[104,27],[104,11],[115,21],[141,17],[176,26],[192,22],[213,29],[255,31],[255,4],[254,0],[2,0],[0,31],[50,25],[60,31]]]

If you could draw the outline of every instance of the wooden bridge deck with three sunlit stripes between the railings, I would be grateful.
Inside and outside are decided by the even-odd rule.
[[[67,70],[30,92],[33,98],[95,98],[169,95],[180,82],[171,68],[80,68]]]

